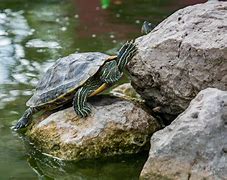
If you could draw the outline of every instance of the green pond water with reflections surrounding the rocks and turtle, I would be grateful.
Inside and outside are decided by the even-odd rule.
[[[80,163],[62,162],[24,144],[10,127],[26,109],[40,74],[74,52],[114,54],[196,0],[1,0],[0,179],[138,179],[147,153]],[[203,1],[200,1],[203,2]]]

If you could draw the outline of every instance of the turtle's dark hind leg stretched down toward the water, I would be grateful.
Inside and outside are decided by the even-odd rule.
[[[34,113],[36,113],[37,111],[38,111],[37,108],[32,108],[32,107],[28,108],[24,112],[23,116],[19,119],[19,121],[17,122],[17,124],[13,127],[13,129],[19,130],[21,128],[27,127],[30,124],[32,115]]]

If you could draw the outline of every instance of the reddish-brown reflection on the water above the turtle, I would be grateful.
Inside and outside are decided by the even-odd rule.
[[[110,9],[101,9],[99,0],[93,0],[90,6],[84,0],[75,0],[75,2],[80,20],[80,26],[77,29],[79,38],[93,37],[94,41],[106,38],[106,42],[117,43],[124,39],[134,38],[135,36],[132,35],[140,32],[133,23],[121,23],[117,17],[119,13],[116,13],[114,18],[111,17],[113,12]],[[117,21],[119,23],[116,23]]]

